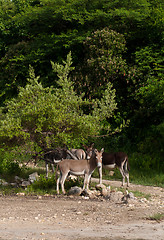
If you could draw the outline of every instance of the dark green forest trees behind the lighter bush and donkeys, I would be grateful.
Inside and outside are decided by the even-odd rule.
[[[1,0],[1,121],[8,113],[6,103],[28,84],[29,65],[43,88],[57,89],[51,61],[61,64],[71,51],[74,70],[69,77],[76,94],[84,93],[82,100],[100,100],[109,83],[116,90],[117,109],[97,134],[106,136],[84,136],[85,143],[126,151],[139,171],[163,172],[163,16],[163,0]],[[91,103],[81,107],[85,114],[92,112]],[[128,127],[116,131],[127,121]],[[112,131],[116,133],[110,135]],[[4,150],[13,151],[13,141],[4,135],[2,159]],[[81,144],[64,141],[71,147]],[[23,149],[29,153],[26,144]]]

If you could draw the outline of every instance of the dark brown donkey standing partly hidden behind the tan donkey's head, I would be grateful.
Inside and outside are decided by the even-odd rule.
[[[93,145],[87,150],[88,158],[91,156],[91,149],[93,149]],[[127,187],[129,186],[129,163],[128,163],[128,155],[124,152],[115,152],[108,153],[103,152],[102,154],[102,167],[108,170],[113,170],[115,168],[119,168],[120,173],[122,175],[122,186],[125,184],[125,178],[127,178]],[[102,167],[99,168],[99,183],[102,183]]]

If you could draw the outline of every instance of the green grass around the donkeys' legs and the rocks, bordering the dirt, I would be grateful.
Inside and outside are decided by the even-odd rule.
[[[28,176],[33,173],[38,172],[40,175],[40,178],[38,181],[34,182],[32,185],[28,186],[26,189],[24,188],[14,188],[11,186],[0,186],[0,193],[1,194],[16,194],[17,192],[25,192],[25,194],[56,194],[56,179],[55,176],[49,173],[49,178],[46,179],[45,177],[45,170],[40,168],[22,168],[19,172],[18,176],[27,180]],[[16,174],[17,175],[17,174]],[[5,174],[1,174],[0,178],[3,178],[7,182],[14,182],[15,175],[10,175],[9,177],[6,177]],[[92,177],[99,178],[98,169],[95,170]],[[122,176],[118,169],[114,170],[114,176],[109,176],[109,171],[103,169],[103,179],[107,180],[122,180]],[[65,181],[65,189],[66,192],[72,187],[72,186],[78,186],[83,187],[84,179],[82,177],[79,177],[77,180],[66,180]],[[164,187],[164,174],[163,173],[156,173],[156,172],[150,172],[144,173],[144,172],[138,172],[137,170],[132,169],[130,171],[130,183],[135,184],[141,184],[141,185],[150,185],[150,186],[160,186]],[[95,185],[97,183],[90,183],[90,189],[95,188]],[[60,188],[61,189],[61,188]],[[119,190],[119,189],[118,189]],[[120,188],[120,191],[124,191]],[[133,191],[134,195],[136,197],[142,197],[149,199],[150,195],[145,194],[139,191]]]

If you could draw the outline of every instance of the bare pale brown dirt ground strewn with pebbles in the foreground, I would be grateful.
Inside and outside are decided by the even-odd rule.
[[[151,197],[123,203],[102,197],[0,196],[0,240],[164,240],[164,221],[148,219],[164,213],[164,189],[131,184],[128,190]]]

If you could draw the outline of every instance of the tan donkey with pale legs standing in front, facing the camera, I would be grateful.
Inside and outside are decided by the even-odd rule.
[[[102,166],[102,153],[104,149],[102,148],[99,152],[97,149],[92,151],[92,155],[89,160],[79,160],[75,161],[72,159],[64,159],[63,161],[59,162],[57,165],[57,169],[60,169],[60,176],[57,179],[57,171],[56,171],[56,190],[57,194],[59,194],[59,183],[61,184],[62,192],[65,194],[64,183],[68,174],[72,174],[75,176],[84,175],[84,185],[83,190],[89,189],[89,181],[91,178],[92,173],[94,172],[95,168],[101,168]]]

